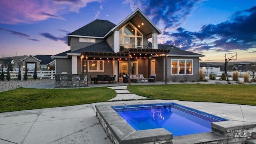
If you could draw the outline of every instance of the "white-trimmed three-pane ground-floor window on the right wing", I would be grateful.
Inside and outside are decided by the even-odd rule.
[[[177,74],[177,75],[192,75],[193,74],[193,60],[180,60],[175,59],[171,60],[171,74]]]

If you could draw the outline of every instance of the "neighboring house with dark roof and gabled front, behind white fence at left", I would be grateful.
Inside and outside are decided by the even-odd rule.
[[[22,61],[22,68],[25,70],[54,70],[55,60],[51,58],[52,55],[36,55],[28,56]]]

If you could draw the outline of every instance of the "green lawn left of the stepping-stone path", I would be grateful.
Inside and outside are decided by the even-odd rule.
[[[17,88],[0,92],[0,112],[106,102],[116,96],[107,87],[76,89]]]

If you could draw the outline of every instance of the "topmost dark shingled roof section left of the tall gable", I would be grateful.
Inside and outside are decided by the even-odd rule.
[[[94,20],[68,35],[104,37],[115,26],[108,20]]]

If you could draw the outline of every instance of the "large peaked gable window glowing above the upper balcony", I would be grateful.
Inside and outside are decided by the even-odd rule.
[[[131,23],[119,30],[119,44],[125,48],[142,48],[142,33]]]

